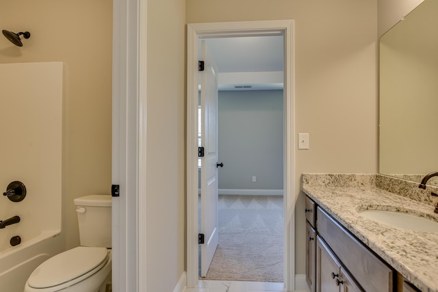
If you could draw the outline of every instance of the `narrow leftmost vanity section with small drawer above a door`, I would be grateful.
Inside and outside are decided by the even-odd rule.
[[[316,248],[316,231],[315,231],[315,202],[306,196],[305,202],[306,216],[306,282],[311,292],[315,292],[315,248]]]

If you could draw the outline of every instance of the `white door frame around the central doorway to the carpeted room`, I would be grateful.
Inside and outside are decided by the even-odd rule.
[[[283,35],[284,284],[295,287],[294,21],[192,23],[187,28],[187,287],[198,284],[198,40]]]

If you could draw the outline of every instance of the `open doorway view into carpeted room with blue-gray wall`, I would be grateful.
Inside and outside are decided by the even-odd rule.
[[[220,162],[218,245],[211,262],[200,255],[200,277],[283,282],[283,36],[200,42],[217,69]],[[202,131],[199,135],[198,146],[204,146]],[[200,218],[201,224],[202,213]],[[199,230],[209,234],[203,226]]]

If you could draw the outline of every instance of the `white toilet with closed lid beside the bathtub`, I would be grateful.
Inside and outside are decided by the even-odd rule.
[[[80,246],[57,254],[29,276],[24,292],[105,292],[111,280],[111,196],[75,198]]]

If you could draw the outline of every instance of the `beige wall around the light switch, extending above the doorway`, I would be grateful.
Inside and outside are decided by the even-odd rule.
[[[230,9],[232,8],[232,9]],[[377,170],[377,0],[205,1],[186,4],[186,22],[295,21],[295,131],[309,133],[297,150],[296,274],[305,274],[302,172]]]

